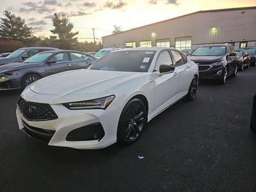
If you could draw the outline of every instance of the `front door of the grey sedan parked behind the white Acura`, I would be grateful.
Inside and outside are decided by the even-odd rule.
[[[44,69],[46,76],[72,70],[67,52],[59,52],[46,61]]]

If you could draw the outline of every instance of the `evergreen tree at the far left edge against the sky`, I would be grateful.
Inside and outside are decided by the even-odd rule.
[[[4,11],[4,17],[0,19],[0,38],[1,40],[25,40],[33,35],[24,19],[16,17],[11,12]]]

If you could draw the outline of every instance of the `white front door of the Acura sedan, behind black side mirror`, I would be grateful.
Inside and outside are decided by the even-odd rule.
[[[179,88],[179,76],[174,76],[174,74],[177,74],[177,69],[175,68],[174,72],[161,75],[159,74],[160,65],[175,65],[167,49],[159,53],[153,72],[155,84],[154,109],[156,111],[164,108],[177,95]]]

